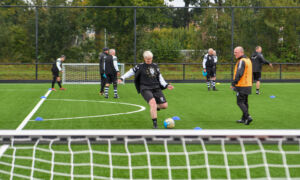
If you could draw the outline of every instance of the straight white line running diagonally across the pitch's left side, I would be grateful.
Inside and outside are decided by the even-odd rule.
[[[45,97],[47,98],[50,93],[51,93],[51,90],[48,90],[47,93],[45,94]],[[26,118],[18,126],[18,128],[16,129],[17,131],[20,131],[20,130],[22,130],[25,127],[25,125],[28,123],[28,121],[30,120],[30,118],[34,115],[34,113],[36,113],[36,111],[40,108],[40,106],[43,104],[43,102],[46,100],[46,98],[42,98],[37,103],[37,105],[35,105],[35,107],[33,108],[33,110],[26,116]],[[7,144],[4,144],[4,145],[2,145],[0,147],[0,158],[5,153],[5,151],[7,150],[8,147],[9,147],[9,145],[7,145]]]

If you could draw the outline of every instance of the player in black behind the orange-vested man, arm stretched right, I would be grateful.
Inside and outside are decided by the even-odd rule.
[[[252,66],[253,66],[253,80],[256,81],[256,94],[259,95],[259,88],[260,88],[260,78],[261,78],[261,68],[263,64],[269,64],[270,67],[272,63],[267,61],[264,56],[262,55],[262,48],[257,46],[255,48],[255,52],[251,56]]]

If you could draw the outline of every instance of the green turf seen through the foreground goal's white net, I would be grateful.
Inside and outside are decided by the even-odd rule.
[[[24,146],[15,146],[23,147]],[[71,145],[73,152],[71,155],[68,146],[64,145],[52,145],[51,149],[55,151],[54,156],[50,152],[48,145],[38,145],[34,153],[34,178],[50,179],[51,172],[51,161],[52,157],[56,164],[53,166],[55,173],[64,173],[66,176],[55,175],[54,179],[70,179],[72,171],[72,159],[74,175],[87,175],[91,174],[91,155],[93,166],[93,175],[98,177],[110,178],[110,166],[113,166],[112,174],[114,178],[130,178],[129,162],[131,163],[132,177],[134,179],[149,179],[149,167],[148,157],[146,155],[145,146],[139,144],[129,144],[128,151],[130,156],[126,152],[124,145],[112,145],[110,156],[107,152],[109,147],[107,144],[104,145],[92,145],[91,149],[93,153],[90,153],[87,144],[82,145]],[[269,166],[264,164],[263,153],[257,144],[245,145],[245,151],[247,164],[249,167],[251,178],[265,178],[266,170],[269,170],[272,178],[286,177],[286,169],[283,166],[283,156],[279,148],[275,145],[264,145],[264,149],[268,152],[265,153],[266,161]],[[208,179],[208,171],[211,174],[212,179],[247,179],[245,161],[243,154],[241,153],[240,145],[225,145],[225,150],[228,153],[226,158],[229,165],[230,176],[227,176],[225,168],[224,154],[222,152],[221,145],[205,145],[208,151],[207,160],[209,168],[206,166],[205,155],[203,147],[201,145],[188,144],[186,150],[189,153],[188,156],[184,154],[183,147],[181,145],[168,144],[167,145],[169,155],[167,155],[166,149],[163,145],[148,145],[150,164],[151,164],[151,175],[153,179],[168,179],[168,163],[171,167],[171,178],[172,179],[187,179],[188,178],[188,167],[186,158],[189,158],[189,165],[191,167],[191,178],[192,179]],[[288,165],[299,166],[299,145],[283,145],[286,154],[286,163]],[[85,151],[85,152],[83,152]],[[67,154],[61,154],[62,152]],[[298,154],[290,154],[298,152]],[[116,154],[117,153],[117,154]],[[160,153],[160,154],[154,154]],[[175,155],[177,153],[177,155]],[[181,153],[181,154],[178,154]],[[231,154],[230,154],[231,153]],[[233,154],[234,153],[234,154]],[[5,155],[0,159],[0,169],[2,171],[10,172],[11,166],[5,163],[11,164],[13,161],[12,155],[13,149],[6,151]],[[22,165],[28,167],[23,169],[15,166],[13,173],[30,177],[31,167],[33,164],[33,149],[19,149],[16,150],[15,156],[17,157],[15,165]],[[111,164],[110,164],[111,159]],[[130,159],[130,161],[129,161]],[[62,164],[63,163],[63,164]],[[85,164],[84,164],[85,163]],[[100,167],[99,167],[100,166]],[[104,166],[104,167],[103,167]],[[214,167],[218,166],[218,167]],[[299,178],[300,168],[289,168],[290,177]],[[9,179],[9,175],[0,172],[0,178]],[[18,179],[18,178],[16,178]],[[75,179],[89,179],[89,178],[75,178]]]

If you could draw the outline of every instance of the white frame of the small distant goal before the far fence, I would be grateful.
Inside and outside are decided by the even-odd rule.
[[[72,80],[69,81],[67,79],[67,68],[66,66],[85,66],[85,67],[89,67],[89,66],[96,66],[95,70],[97,71],[96,74],[94,74],[94,78],[92,80],[89,81],[76,81]],[[120,75],[122,76],[125,73],[125,63],[118,63],[119,66],[119,71],[120,71]],[[87,75],[87,71],[85,72],[85,75]],[[62,64],[62,83],[63,84],[99,84],[100,83],[100,72],[99,72],[99,63],[63,63]]]

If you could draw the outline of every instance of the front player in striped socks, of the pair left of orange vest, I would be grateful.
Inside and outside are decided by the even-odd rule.
[[[214,58],[214,50],[212,48],[208,49],[208,53],[204,55],[203,58],[203,70],[204,72],[207,72],[206,75],[206,84],[207,88],[210,91],[211,86],[213,87],[213,90],[216,91],[216,64],[217,64],[217,58]]]

